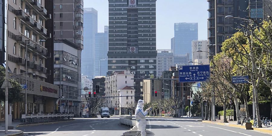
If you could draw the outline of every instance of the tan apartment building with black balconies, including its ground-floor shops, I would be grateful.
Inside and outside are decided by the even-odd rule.
[[[27,85],[27,103],[24,101],[12,104],[13,118],[20,118],[23,112],[39,114],[54,112],[58,108],[54,103],[59,98],[59,89],[58,86],[51,84],[52,81],[47,83],[49,82],[47,77],[53,70],[51,67],[47,68],[53,66],[53,61],[47,61],[54,54],[51,44],[53,27],[50,26],[53,24],[50,14],[53,11],[53,1],[7,0],[5,2],[8,2],[4,4],[7,7],[2,7],[2,10],[5,10],[2,13],[6,14],[5,28],[8,30],[7,37],[4,37],[5,34],[2,35],[2,40],[6,39],[6,45],[2,46],[5,45],[8,49],[5,51],[8,53],[6,58],[8,68],[11,70],[9,74],[13,75],[12,78],[19,84]],[[5,23],[5,19],[2,23]],[[21,92],[24,95],[25,89]]]

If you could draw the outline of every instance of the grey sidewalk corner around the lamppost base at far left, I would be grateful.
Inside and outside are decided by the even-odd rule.
[[[5,122],[0,122],[0,136],[21,136],[23,132],[16,129],[16,126],[21,124],[20,120],[15,120],[12,122],[11,126],[13,129],[8,129],[8,134],[5,134]]]

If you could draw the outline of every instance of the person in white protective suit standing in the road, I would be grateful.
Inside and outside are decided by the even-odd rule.
[[[147,108],[144,111],[143,108],[144,108],[144,101],[140,99],[135,109],[135,118],[136,118],[136,121],[138,121],[138,131],[141,131],[141,136],[145,136],[145,128],[146,128],[145,116],[147,115],[150,109],[150,108]]]

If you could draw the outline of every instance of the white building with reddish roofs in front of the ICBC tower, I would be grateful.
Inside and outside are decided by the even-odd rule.
[[[134,96],[134,74],[130,73],[130,70],[124,70],[120,73],[114,73],[112,76],[108,76],[105,79],[105,93],[106,97],[110,96]],[[133,89],[133,90],[132,90]],[[128,91],[128,94],[127,94]],[[132,91],[132,94],[131,94]],[[121,108],[127,106],[127,102],[134,102],[134,97],[126,99],[126,97],[114,97],[106,98],[106,105],[112,108],[115,115],[121,114]],[[112,113],[112,112],[111,112]]]

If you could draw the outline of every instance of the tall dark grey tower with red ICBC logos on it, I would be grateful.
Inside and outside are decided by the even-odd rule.
[[[109,0],[108,75],[130,69],[135,78],[156,76],[156,56],[156,0]]]

